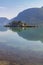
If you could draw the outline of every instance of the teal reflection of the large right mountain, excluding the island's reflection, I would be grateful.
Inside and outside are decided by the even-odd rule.
[[[17,29],[16,29],[17,30]],[[15,28],[13,28],[15,31]],[[17,30],[18,31],[18,30]],[[17,32],[19,36],[33,41],[43,41],[43,27],[40,28],[28,28],[27,30],[23,30],[21,32]]]

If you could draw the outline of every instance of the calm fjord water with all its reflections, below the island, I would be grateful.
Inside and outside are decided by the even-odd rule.
[[[43,27],[0,27],[0,60],[43,65]]]

